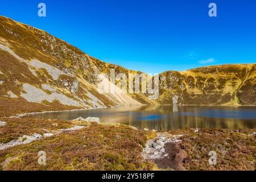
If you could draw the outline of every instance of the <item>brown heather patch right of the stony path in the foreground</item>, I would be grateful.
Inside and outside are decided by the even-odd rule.
[[[187,170],[255,170],[256,129],[173,130],[184,134],[180,148],[185,151],[183,167]],[[217,164],[210,165],[210,151],[217,154]]]

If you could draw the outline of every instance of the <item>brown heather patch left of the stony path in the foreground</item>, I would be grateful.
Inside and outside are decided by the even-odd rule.
[[[3,170],[152,170],[155,165],[141,157],[142,145],[151,135],[129,126],[92,123],[79,131],[0,151],[0,163],[5,164]],[[46,152],[45,166],[38,164],[39,151]]]

